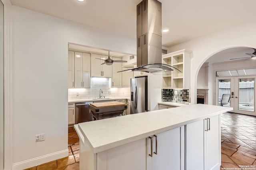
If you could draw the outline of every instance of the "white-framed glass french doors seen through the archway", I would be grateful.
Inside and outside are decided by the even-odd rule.
[[[233,107],[230,112],[256,115],[256,76],[216,77],[217,106]]]

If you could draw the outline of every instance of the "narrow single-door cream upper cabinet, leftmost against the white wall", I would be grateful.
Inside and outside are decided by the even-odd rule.
[[[74,88],[75,86],[75,54],[74,51],[68,51],[68,88]]]

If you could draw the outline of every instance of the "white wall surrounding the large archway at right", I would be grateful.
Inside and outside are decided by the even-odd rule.
[[[175,45],[168,52],[188,49],[193,51],[191,57],[191,104],[196,103],[196,87],[198,71],[202,64],[215,53],[231,47],[256,48],[256,19],[234,27],[224,29],[185,43]],[[210,88],[209,88],[210,89]],[[212,90],[212,89],[210,89]],[[210,96],[209,96],[210,98]]]

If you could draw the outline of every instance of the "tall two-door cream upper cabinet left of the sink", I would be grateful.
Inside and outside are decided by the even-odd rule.
[[[90,88],[90,54],[74,52],[74,87]]]

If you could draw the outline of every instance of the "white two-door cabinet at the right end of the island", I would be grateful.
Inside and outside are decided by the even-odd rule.
[[[186,170],[219,170],[220,115],[186,125]]]

